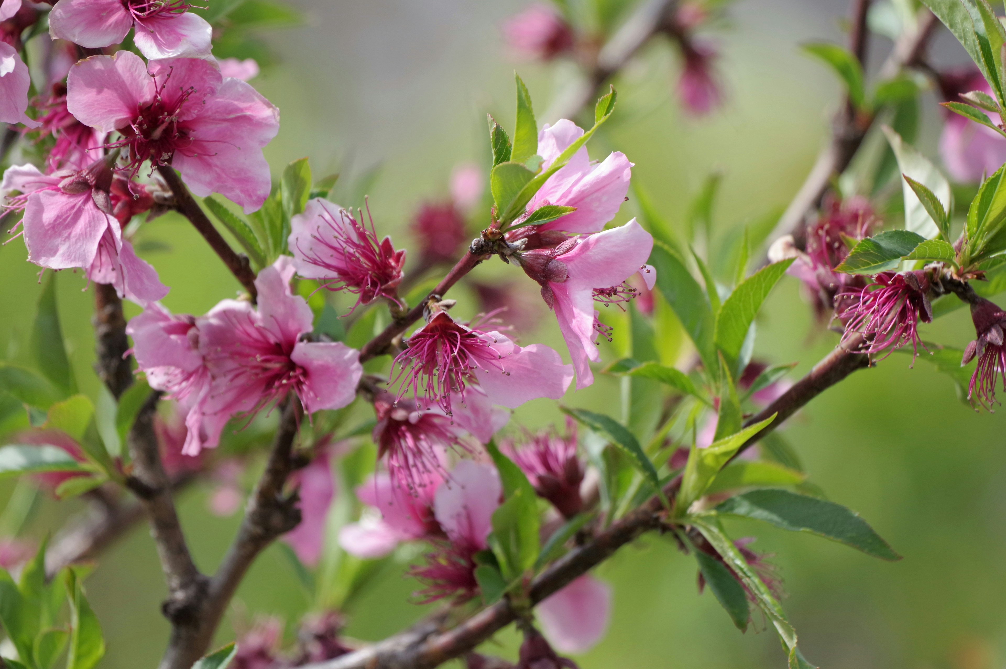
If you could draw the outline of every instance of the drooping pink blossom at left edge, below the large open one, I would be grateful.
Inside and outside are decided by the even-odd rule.
[[[160,300],[168,293],[157,272],[137,258],[133,244],[122,238],[112,214],[112,171],[105,159],[76,172],[44,175],[33,165],[4,172],[0,197],[14,208],[24,207],[22,219],[28,260],[52,270],[82,268],[88,278],[115,286],[120,297],[138,304]]]

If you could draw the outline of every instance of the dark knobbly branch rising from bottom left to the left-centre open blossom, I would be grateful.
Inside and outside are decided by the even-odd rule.
[[[298,497],[285,497],[283,487],[293,471],[294,439],[302,412],[300,402],[291,397],[283,410],[266,472],[248,499],[237,536],[220,568],[209,579],[194,615],[174,621],[161,669],[189,669],[206,652],[252,562],[266,546],[300,522]]]

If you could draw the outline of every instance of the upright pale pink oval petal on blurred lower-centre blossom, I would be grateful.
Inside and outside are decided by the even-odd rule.
[[[462,460],[437,489],[434,498],[437,521],[452,541],[484,549],[502,492],[495,468]]]

